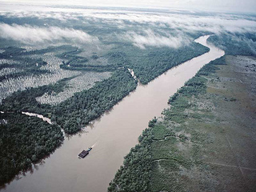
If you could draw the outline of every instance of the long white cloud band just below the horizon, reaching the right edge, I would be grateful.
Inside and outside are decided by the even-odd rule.
[[[113,25],[118,22],[130,22],[131,25],[166,26],[170,29],[182,29],[186,32],[208,31],[220,34],[224,32],[245,33],[256,30],[256,18],[242,14],[208,14],[204,12],[191,14],[186,11],[180,14],[174,13],[172,10],[169,13],[126,10],[120,13],[114,10],[90,10],[80,13],[80,17],[84,20],[104,21]]]

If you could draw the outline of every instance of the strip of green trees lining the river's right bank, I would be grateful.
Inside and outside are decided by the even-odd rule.
[[[138,138],[138,145],[134,146],[124,158],[123,166],[110,182],[108,191],[169,191],[169,189],[183,191],[176,185],[171,186],[175,183],[175,176],[171,177],[167,172],[178,170],[178,166],[190,167],[190,159],[183,158],[174,147],[177,140],[186,142],[188,138],[185,134],[176,134],[176,131],[181,131],[182,127],[172,130],[170,125],[171,122],[181,123],[189,118],[184,114],[184,111],[190,107],[187,98],[205,94],[206,78],[204,76],[214,73],[218,70],[217,65],[223,64],[225,64],[225,56],[206,64],[194,78],[187,81],[185,86],[170,97],[170,108],[162,112],[163,122],[158,122],[158,118],[149,122],[148,128],[143,130]],[[196,133],[195,136],[197,136]],[[160,160],[165,162],[161,161],[159,165]],[[156,171],[159,166],[164,166],[166,171],[159,174]]]

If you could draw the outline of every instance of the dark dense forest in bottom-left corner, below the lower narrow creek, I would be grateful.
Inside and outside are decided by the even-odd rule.
[[[60,128],[20,113],[0,114],[0,186],[62,144]]]

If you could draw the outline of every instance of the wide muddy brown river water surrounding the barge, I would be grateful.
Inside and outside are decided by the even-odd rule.
[[[103,192],[122,165],[123,157],[138,143],[138,136],[150,119],[160,116],[167,100],[192,78],[206,63],[224,52],[206,43],[209,36],[196,42],[208,46],[210,52],[167,71],[147,86],[137,89],[114,106],[113,110],[86,127],[83,134],[66,138],[64,144],[34,173],[21,175],[10,182],[5,191],[18,192]],[[93,150],[84,159],[78,154],[89,146]]]

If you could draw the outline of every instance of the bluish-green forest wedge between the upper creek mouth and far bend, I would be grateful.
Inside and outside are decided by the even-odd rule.
[[[208,51],[208,47],[196,42],[191,42],[189,46],[182,46],[178,49],[147,47],[142,50],[131,45],[124,45],[111,50],[107,57],[109,62],[116,66],[133,69],[140,82],[146,84],[166,70]]]

